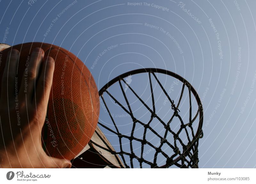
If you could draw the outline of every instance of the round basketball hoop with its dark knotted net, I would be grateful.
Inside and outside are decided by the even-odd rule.
[[[134,89],[134,87],[140,88],[140,85],[132,87],[129,80],[127,81],[127,77],[131,78],[138,74],[147,75],[148,77],[148,89],[150,92],[148,92],[149,99],[147,100],[142,100],[143,95],[139,95],[136,89]],[[172,93],[170,94],[170,92],[165,89],[164,85],[160,82],[159,75],[173,77],[181,82],[180,86],[182,87],[177,91],[179,93],[178,97],[173,97]],[[139,84],[141,81],[135,82]],[[166,117],[163,118],[161,116],[162,110],[158,109],[157,101],[159,101],[160,95],[159,90],[156,90],[157,93],[154,91],[156,85],[166,99],[165,104],[167,104],[167,101],[168,104],[170,104],[170,106],[164,106],[164,108],[168,109],[168,120],[166,120]],[[115,92],[120,90],[119,93],[116,93],[118,94],[116,97],[110,92],[111,86],[115,87]],[[130,92],[129,94],[127,94],[128,90]],[[187,93],[186,95],[185,92]],[[122,160],[123,164],[119,163],[119,166],[115,165],[113,167],[198,168],[198,142],[199,138],[203,137],[203,107],[198,94],[183,77],[173,72],[156,68],[133,70],[108,82],[108,84],[100,90],[99,94],[102,105],[104,105],[110,120],[108,122],[99,122],[98,125],[105,133],[106,137],[110,137],[110,142],[111,140],[115,140],[114,143],[111,142],[115,150],[103,139],[102,141],[105,143],[105,146],[97,142],[91,141],[91,143],[107,150],[109,153]],[[133,95],[133,100],[131,100],[131,94]],[[117,96],[122,96],[123,101],[119,100]],[[187,116],[182,116],[180,112],[180,107],[182,105],[185,106],[185,101],[182,101],[184,96],[186,96],[188,99],[187,102],[189,103],[188,106],[186,106],[188,107],[187,112],[184,112]],[[120,121],[120,119],[117,121],[114,118],[111,107],[109,107],[113,106],[113,104],[109,104],[106,98],[114,102],[115,105],[127,115],[126,121]],[[173,100],[173,98],[175,100]],[[143,108],[146,108],[146,114],[138,117],[140,108],[133,108],[134,99],[136,99]],[[149,102],[150,105],[148,105]],[[192,103],[196,103],[197,107],[194,115]],[[141,118],[146,115],[150,116],[147,121]],[[124,127],[124,122],[129,123],[125,123]],[[176,124],[176,126],[173,126],[173,124]],[[126,126],[129,126],[130,129],[127,130]],[[197,129],[194,130],[195,128]],[[127,133],[126,130],[129,133]],[[159,140],[157,144],[153,138]]]

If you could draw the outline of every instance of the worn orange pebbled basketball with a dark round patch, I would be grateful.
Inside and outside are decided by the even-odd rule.
[[[40,42],[12,46],[20,51],[18,78],[22,78],[28,56],[36,47],[44,50],[45,58],[51,56],[55,60],[42,146],[49,156],[71,160],[88,144],[97,126],[100,113],[97,86],[88,68],[74,54]],[[2,51],[0,78],[10,50],[11,47]]]

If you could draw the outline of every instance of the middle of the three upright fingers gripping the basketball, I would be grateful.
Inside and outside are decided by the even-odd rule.
[[[30,57],[28,69],[24,71],[24,78],[21,85],[23,90],[20,90],[22,100],[25,99],[25,94],[27,94],[27,98],[29,98],[30,101],[32,100],[32,97],[35,94],[35,84],[43,58],[43,49],[39,47],[35,48]],[[25,85],[25,83],[27,84]]]

